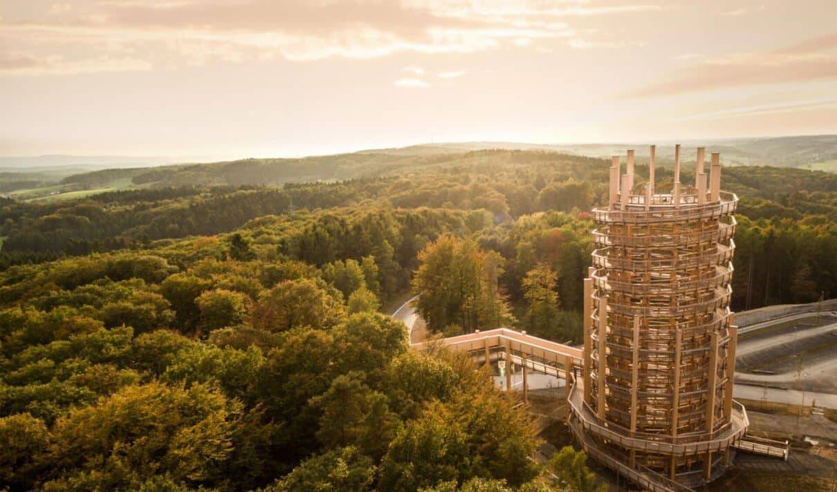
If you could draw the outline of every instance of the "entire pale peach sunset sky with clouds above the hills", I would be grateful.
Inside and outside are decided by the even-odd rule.
[[[825,133],[834,0],[0,0],[0,156]]]

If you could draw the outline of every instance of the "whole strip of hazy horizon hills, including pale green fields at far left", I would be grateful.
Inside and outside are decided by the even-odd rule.
[[[727,167],[774,166],[795,167],[816,171],[837,172],[837,136],[787,136],[716,141],[683,141],[682,161],[686,167],[695,159],[695,147],[720,151]],[[130,158],[109,169],[86,164],[88,172],[68,176],[67,167],[33,176],[22,172],[0,175],[0,193],[17,200],[62,200],[93,192],[120,189],[180,186],[281,186],[289,182],[334,182],[365,177],[383,177],[408,173],[419,168],[468,165],[473,152],[485,150],[519,150],[559,152],[576,156],[606,157],[624,155],[634,149],[639,163],[648,160],[646,143],[609,143],[579,145],[544,145],[516,142],[452,142],[371,149],[331,156],[301,158],[241,159],[195,164],[128,167]],[[660,167],[674,161],[674,145],[659,142],[657,159]],[[71,156],[33,157],[40,162],[71,162],[89,159]],[[60,157],[60,158],[59,158]],[[117,159],[101,157],[101,160]],[[148,159],[163,159],[148,158]],[[8,161],[8,158],[6,158]],[[3,169],[0,158],[0,170]],[[90,170],[93,167],[94,170]],[[34,167],[30,172],[40,172]],[[20,170],[23,171],[23,170]]]

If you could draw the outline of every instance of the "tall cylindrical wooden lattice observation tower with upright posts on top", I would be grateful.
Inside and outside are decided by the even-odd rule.
[[[704,172],[702,148],[694,187],[680,184],[680,146],[670,192],[655,191],[654,146],[648,182],[634,186],[634,151],[620,171],[614,156],[607,207],[593,210],[583,380],[569,398],[570,424],[601,461],[676,489],[719,474],[747,430],[732,401],[738,199],[721,192],[717,153]]]

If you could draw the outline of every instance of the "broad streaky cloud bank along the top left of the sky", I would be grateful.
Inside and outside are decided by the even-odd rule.
[[[87,71],[104,59],[110,70],[115,59],[153,67],[470,54],[549,49],[538,44],[574,35],[564,19],[659,9],[587,0],[90,0],[54,3],[40,17],[5,16],[0,45],[33,59],[62,57],[50,73]],[[3,73],[23,72],[0,66]]]

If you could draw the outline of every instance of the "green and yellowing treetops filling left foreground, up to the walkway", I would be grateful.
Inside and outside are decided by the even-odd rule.
[[[560,489],[528,460],[538,440],[521,407],[470,361],[409,352],[403,325],[375,311],[429,238],[472,236],[492,219],[298,211],[4,270],[0,481]]]

